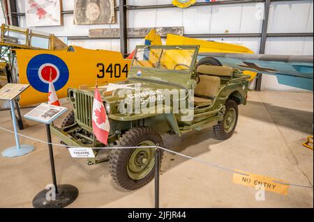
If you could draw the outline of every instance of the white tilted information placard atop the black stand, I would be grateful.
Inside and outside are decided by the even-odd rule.
[[[24,118],[37,122],[43,122],[45,124],[50,124],[50,122],[54,121],[66,111],[66,107],[42,103],[35,109],[29,111],[29,113],[26,113],[24,115]]]

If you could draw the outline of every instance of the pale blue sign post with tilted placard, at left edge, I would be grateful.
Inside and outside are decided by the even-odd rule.
[[[20,139],[17,134],[17,120],[15,116],[15,97],[26,90],[29,85],[25,84],[7,84],[0,90],[0,100],[9,100],[13,120],[13,129],[15,136],[15,146],[10,147],[2,152],[3,157],[20,157],[34,150],[33,145],[20,145]]]

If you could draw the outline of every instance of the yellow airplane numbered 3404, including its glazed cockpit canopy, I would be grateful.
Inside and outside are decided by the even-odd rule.
[[[6,67],[15,52],[17,72],[15,77],[20,84],[30,84],[20,96],[20,106],[47,102],[50,73],[59,98],[67,96],[68,88],[80,88],[95,84],[122,81],[128,76],[130,61],[122,58],[117,51],[91,50],[70,46],[50,33],[40,33],[17,26],[1,25],[0,52]],[[1,60],[1,61],[2,61]],[[14,66],[15,64],[11,64]],[[1,75],[1,79],[6,78]],[[15,78],[14,78],[15,79]]]

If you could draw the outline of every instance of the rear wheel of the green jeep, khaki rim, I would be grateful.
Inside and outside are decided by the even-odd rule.
[[[238,122],[238,104],[234,100],[225,102],[225,114],[223,120],[213,127],[214,134],[218,140],[230,138]]]

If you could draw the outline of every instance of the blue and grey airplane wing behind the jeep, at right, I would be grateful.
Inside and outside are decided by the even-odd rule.
[[[279,84],[313,91],[313,56],[200,53],[214,57],[222,65],[240,70],[276,75]]]

